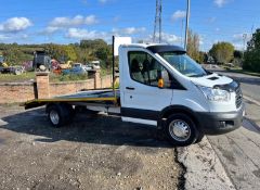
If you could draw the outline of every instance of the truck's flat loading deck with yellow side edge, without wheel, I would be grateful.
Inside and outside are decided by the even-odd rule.
[[[87,90],[73,94],[58,96],[48,99],[34,99],[27,101],[22,106],[25,110],[34,109],[46,105],[48,103],[69,103],[69,104],[100,104],[106,106],[119,106],[120,104],[120,91],[117,89],[115,92],[113,89],[100,89],[100,90]]]

